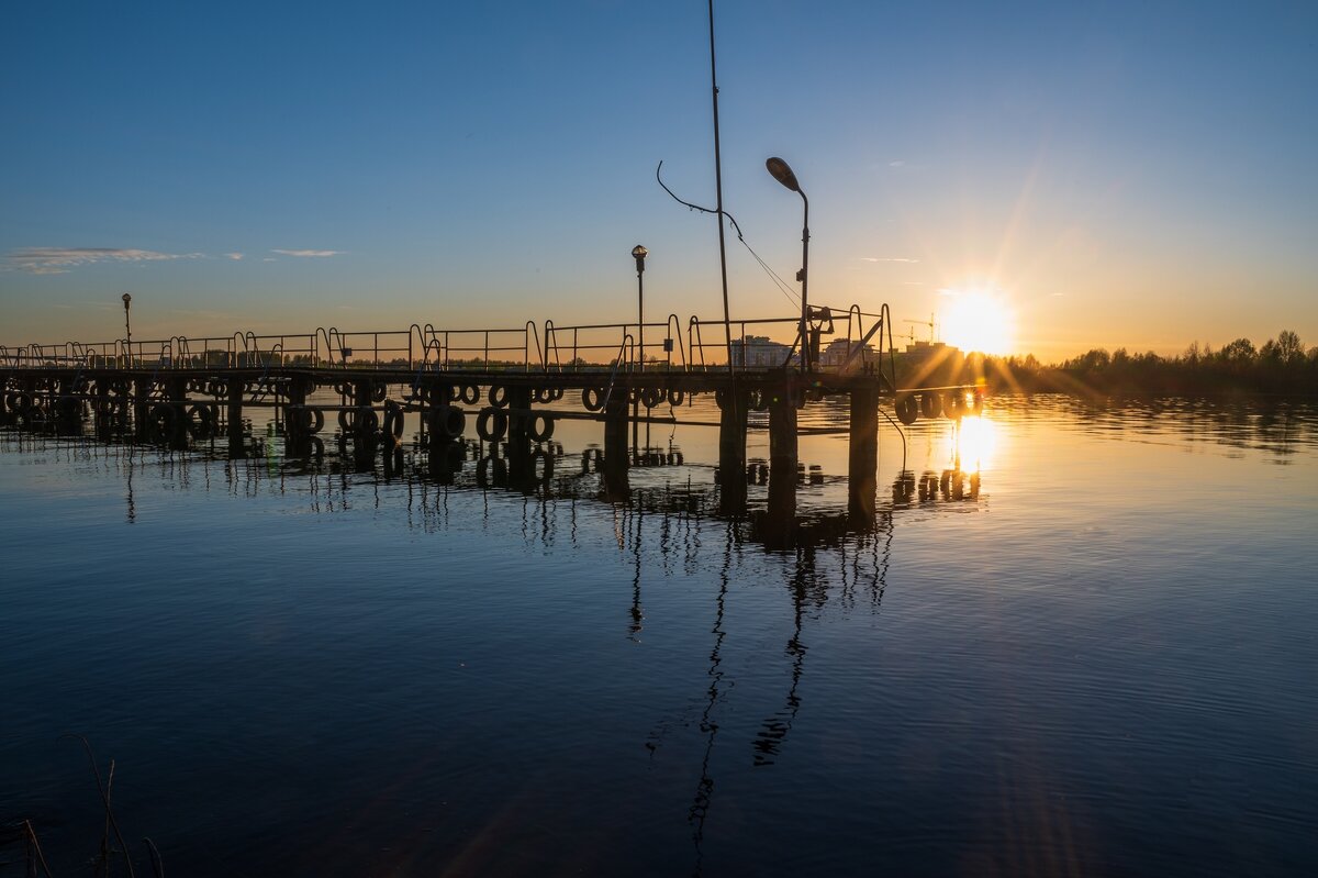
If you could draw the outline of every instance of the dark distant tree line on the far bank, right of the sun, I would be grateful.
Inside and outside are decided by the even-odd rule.
[[[967,380],[983,378],[995,390],[1062,390],[1070,393],[1318,393],[1318,347],[1305,349],[1300,336],[1285,330],[1256,348],[1236,339],[1214,351],[1190,344],[1178,356],[1126,348],[1094,348],[1057,365],[1024,357],[969,357]]]

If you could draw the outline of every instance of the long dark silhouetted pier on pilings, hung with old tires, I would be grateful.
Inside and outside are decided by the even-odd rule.
[[[847,512],[863,523],[873,522],[875,512],[883,402],[891,402],[905,423],[921,410],[927,417],[958,418],[982,405],[971,386],[899,390],[891,340],[887,349],[883,344],[886,312],[865,315],[853,307],[845,344],[834,343],[842,356],[813,365],[820,363],[825,320],[829,328],[833,324],[822,308],[817,324],[812,320],[808,370],[793,360],[799,344],[778,345],[750,334],[754,324],[795,322],[795,316],[739,320],[735,344],[722,335],[708,344],[731,349],[731,364],[726,359],[706,364],[702,324],[692,318],[683,339],[675,316],[647,324],[650,337],[662,339],[654,345],[662,345],[662,361],[633,341],[647,327],[560,328],[551,322],[544,324],[543,344],[539,327],[527,323],[521,330],[442,332],[414,324],[406,334],[331,328],[265,337],[0,347],[0,426],[66,436],[90,428],[107,442],[181,451],[219,442],[229,456],[241,457],[250,448],[244,427],[250,410],[265,407],[274,410],[287,456],[323,456],[333,432],[340,452],[365,467],[381,456],[386,465],[401,457],[403,418],[411,415],[419,421],[419,447],[435,479],[452,479],[461,467],[464,436],[474,432],[502,450],[506,483],[521,486],[538,479],[536,455],[543,454],[538,450],[554,435],[555,423],[584,419],[602,424],[597,464],[605,497],[625,498],[629,465],[641,451],[637,424],[683,423],[683,405],[709,394],[720,414],[717,483],[725,514],[745,512],[749,418],[751,411],[767,413],[771,523],[795,519],[799,411],[826,397],[845,397]],[[867,318],[873,324],[866,326]],[[875,336],[876,348],[870,345]],[[763,363],[762,351],[772,355],[772,363]],[[590,365],[588,359],[600,359],[601,352],[612,353],[609,361]],[[336,403],[324,402],[327,389],[337,395]],[[656,411],[660,406],[672,414]]]

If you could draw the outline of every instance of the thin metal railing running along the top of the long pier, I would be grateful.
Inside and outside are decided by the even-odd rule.
[[[845,316],[844,316],[845,315]],[[407,330],[343,331],[316,327],[310,334],[256,335],[236,331],[231,336],[167,339],[115,339],[112,341],[0,345],[5,368],[96,369],[243,369],[270,366],[332,366],[343,369],[415,369],[448,372],[598,372],[645,370],[709,372],[728,368],[731,351],[734,370],[770,370],[800,366],[800,318],[701,320],[692,316],[685,335],[681,320],[670,314],[662,322],[585,323],[540,326],[527,320],[519,328],[436,328],[413,323]],[[704,339],[710,332],[712,339]],[[884,339],[884,328],[888,328]],[[650,330],[646,334],[643,330]],[[662,330],[663,332],[655,332]],[[825,372],[870,369],[882,361],[884,344],[891,351],[891,318],[884,305],[869,314],[853,305],[845,310],[813,307],[809,339],[812,365]],[[638,339],[656,341],[641,347]],[[820,349],[821,339],[830,344]],[[876,347],[875,344],[876,343]],[[662,355],[662,356],[660,356]]]

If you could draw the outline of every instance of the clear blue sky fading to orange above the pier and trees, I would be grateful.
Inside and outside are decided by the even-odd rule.
[[[721,316],[701,1],[25,4],[0,341]],[[724,190],[812,299],[1044,356],[1318,344],[1318,5],[716,7]],[[745,248],[734,315],[791,312]],[[900,327],[899,327],[900,328]]]

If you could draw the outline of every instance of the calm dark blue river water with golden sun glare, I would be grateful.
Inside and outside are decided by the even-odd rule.
[[[175,875],[1318,874],[1318,407],[1002,398],[899,502],[884,423],[788,552],[712,431],[623,506],[576,430],[550,497],[0,439],[0,821],[86,873],[72,732]]]

